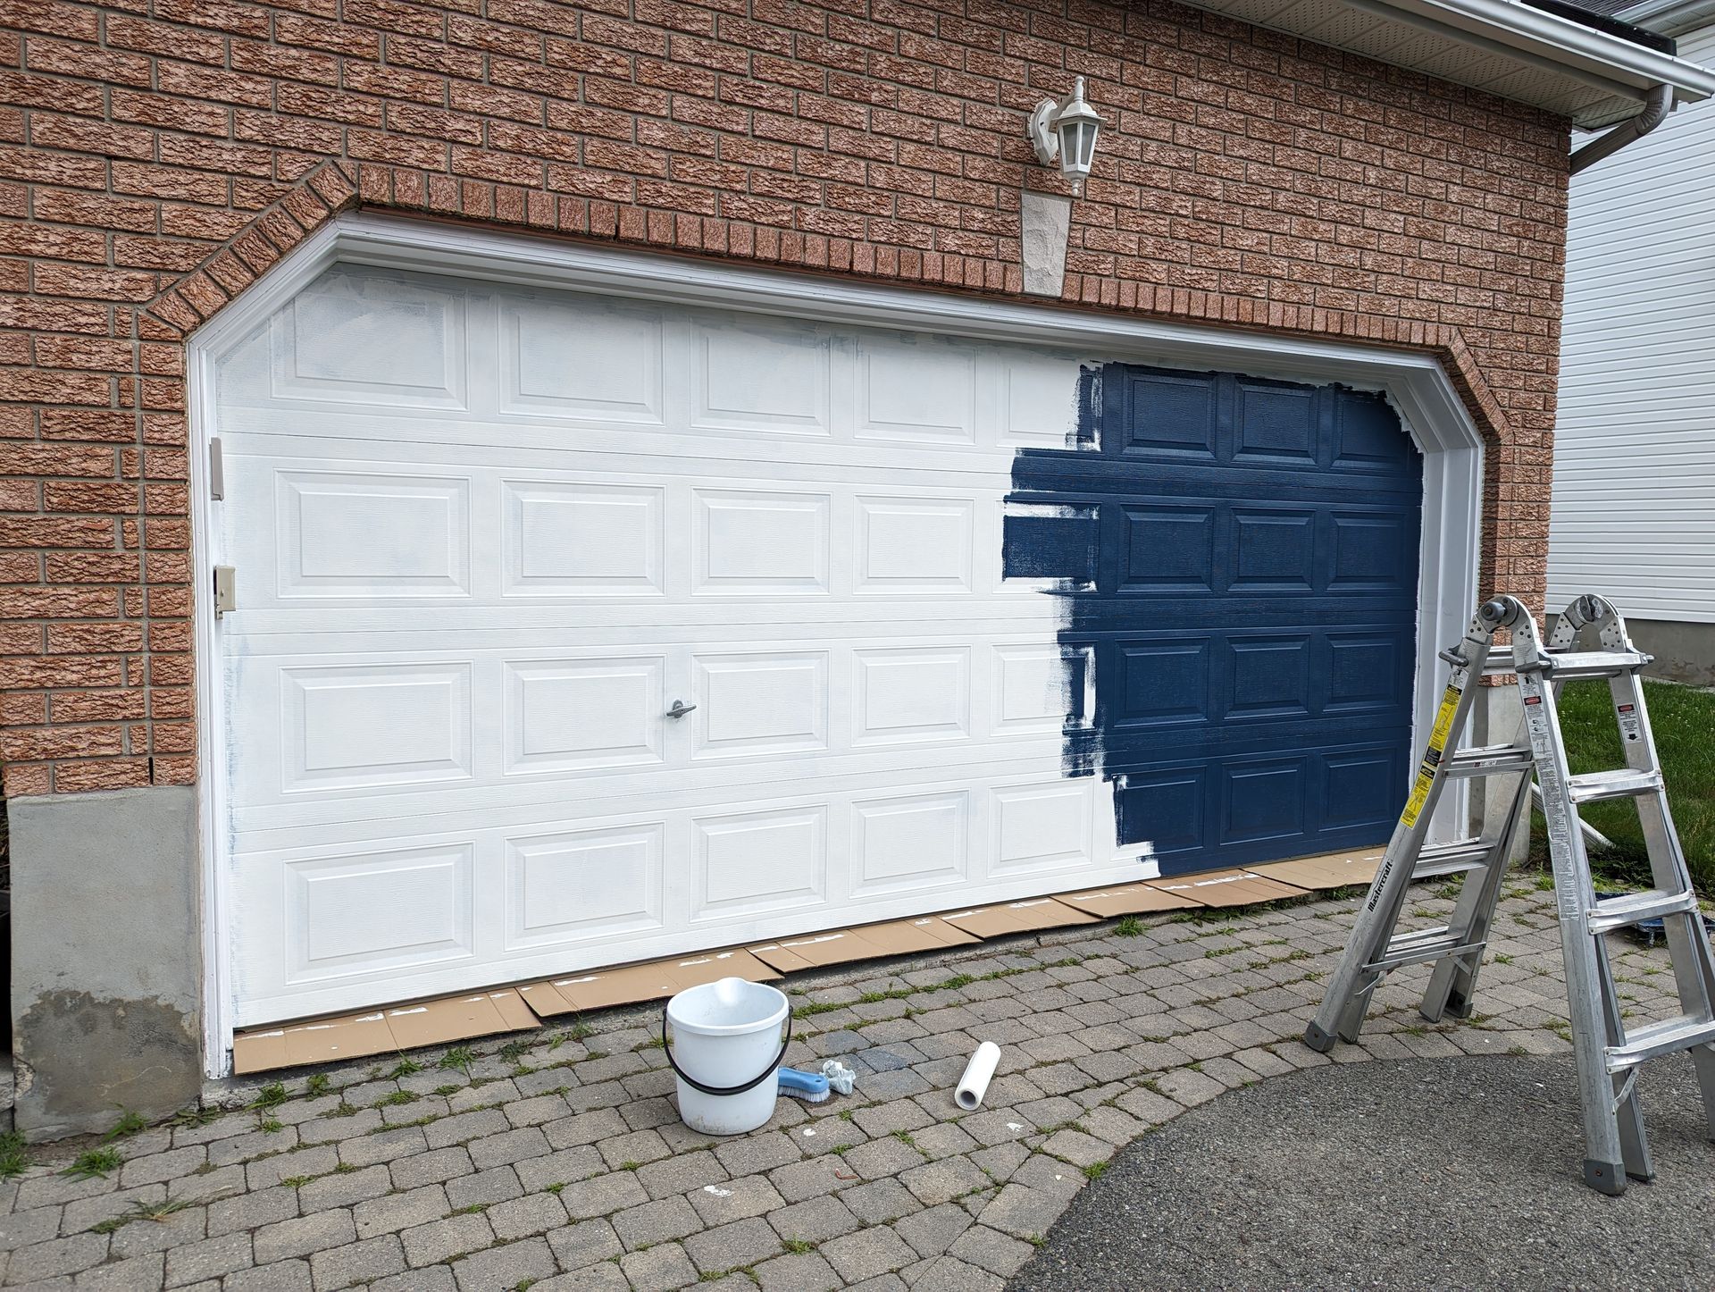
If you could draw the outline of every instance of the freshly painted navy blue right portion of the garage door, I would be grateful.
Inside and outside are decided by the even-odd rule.
[[[1087,371],[1082,446],[1022,450],[1008,577],[1062,580],[1115,786],[1163,873],[1387,839],[1406,789],[1422,456],[1379,395]],[[1074,691],[1079,691],[1074,686]]]

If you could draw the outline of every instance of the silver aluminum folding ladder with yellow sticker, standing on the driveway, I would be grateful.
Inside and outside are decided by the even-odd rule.
[[[1497,650],[1490,661],[1494,633],[1501,628],[1511,630],[1513,649],[1509,655]],[[1598,649],[1578,649],[1586,628],[1597,631]],[[1624,619],[1602,597],[1580,597],[1568,606],[1547,645],[1523,604],[1497,597],[1477,609],[1465,638],[1441,657],[1453,666],[1453,676],[1441,697],[1429,748],[1369,897],[1358,908],[1339,968],[1303,1040],[1324,1052],[1333,1048],[1336,1036],[1355,1041],[1375,985],[1405,964],[1435,966],[1420,1005],[1423,1017],[1439,1021],[1444,1012],[1456,1017],[1470,1014],[1501,880],[1530,810],[1535,772],[1566,961],[1566,999],[1585,1120],[1585,1182],[1607,1194],[1624,1192],[1628,1175],[1648,1180],[1655,1174],[1636,1096],[1638,1069],[1646,1059],[1691,1052],[1708,1134],[1715,1139],[1715,957],[1667,810],[1643,702],[1638,674],[1652,657],[1631,643]],[[1519,740],[1459,748],[1477,679],[1509,673],[1518,676],[1523,700]],[[1561,685],[1576,678],[1607,678],[1626,750],[1624,767],[1585,776],[1568,772],[1556,702]],[[1504,810],[1485,812],[1482,834],[1475,839],[1429,842],[1430,818],[1446,784],[1456,777],[1490,776],[1516,779],[1511,796],[1502,796]],[[1653,889],[1598,903],[1578,805],[1605,798],[1636,800]],[[1447,925],[1396,933],[1410,884],[1454,873],[1463,873],[1465,882]],[[1605,935],[1655,916],[1662,918],[1667,933],[1682,1016],[1628,1029],[1621,1019]]]

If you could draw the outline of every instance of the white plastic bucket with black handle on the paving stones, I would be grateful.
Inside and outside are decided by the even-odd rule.
[[[689,987],[667,1002],[660,1038],[679,1079],[686,1126],[703,1134],[744,1134],[773,1117],[791,1012],[784,992],[743,978]]]

